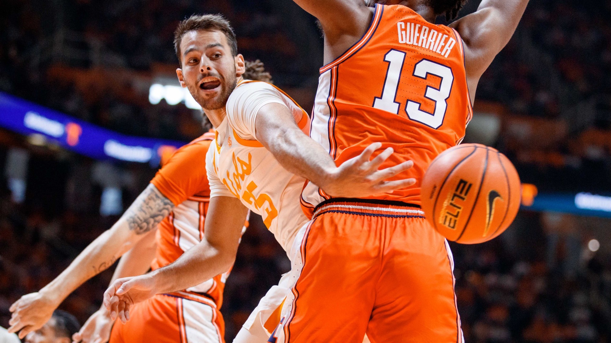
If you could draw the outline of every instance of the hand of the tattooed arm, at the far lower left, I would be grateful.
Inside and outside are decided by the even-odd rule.
[[[42,328],[59,306],[57,301],[42,292],[26,294],[10,306],[13,312],[9,320],[9,332],[18,333],[23,339],[28,333]]]

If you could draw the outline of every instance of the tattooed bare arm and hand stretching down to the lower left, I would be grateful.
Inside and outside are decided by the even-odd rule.
[[[40,291],[24,295],[10,307],[10,332],[20,338],[41,328],[62,301],[82,283],[110,267],[165,218],[174,208],[152,184],[122,217],[85,248],[76,259]]]

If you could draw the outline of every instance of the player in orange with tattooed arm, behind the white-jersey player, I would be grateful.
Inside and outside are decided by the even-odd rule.
[[[245,69],[248,78],[271,79],[258,61],[246,62]],[[112,281],[170,264],[200,242],[210,201],[204,157],[213,139],[214,133],[208,132],[175,151],[111,229],[94,240],[53,282],[13,304],[10,330],[20,331],[21,337],[38,330],[65,297],[110,267],[117,256],[123,255]],[[112,343],[222,342],[224,322],[219,309],[227,275],[158,295],[134,308],[136,318],[125,325],[117,321],[113,327],[110,314],[102,308],[73,339],[86,343],[107,342],[109,338]]]

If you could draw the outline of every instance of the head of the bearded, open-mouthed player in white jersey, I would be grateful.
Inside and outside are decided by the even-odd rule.
[[[227,37],[218,31],[189,31],[180,42],[182,69],[178,81],[203,109],[225,107],[244,73],[244,58],[232,56]]]

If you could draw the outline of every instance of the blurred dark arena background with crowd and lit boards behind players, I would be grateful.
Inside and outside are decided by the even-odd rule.
[[[172,34],[192,13],[227,16],[246,59],[312,108],[322,39],[292,1],[0,2],[1,326],[202,134],[175,87]],[[505,234],[452,244],[467,342],[611,342],[610,17],[609,0],[531,0],[481,78],[466,142],[507,154],[526,185]],[[225,290],[228,342],[288,268],[253,218]],[[111,275],[61,308],[83,323]]]

